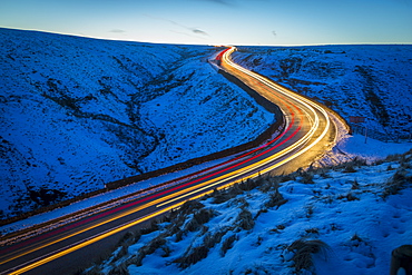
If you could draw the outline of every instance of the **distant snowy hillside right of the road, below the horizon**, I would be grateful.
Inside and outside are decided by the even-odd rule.
[[[238,47],[234,60],[392,138],[412,129],[412,46]]]

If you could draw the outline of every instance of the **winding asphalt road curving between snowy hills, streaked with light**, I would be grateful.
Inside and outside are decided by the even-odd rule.
[[[17,238],[0,248],[0,274],[73,273],[73,261],[84,255],[96,256],[95,249],[107,248],[105,243],[110,243],[110,238],[118,239],[139,224],[178,208],[188,199],[267,171],[296,170],[310,165],[330,147],[335,127],[327,111],[318,104],[234,63],[230,55],[235,50],[235,47],[228,48],[216,59],[223,70],[281,108],[285,125],[279,135],[258,148],[192,174],[145,197],[30,238]]]

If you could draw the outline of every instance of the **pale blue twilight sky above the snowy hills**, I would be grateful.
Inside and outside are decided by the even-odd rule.
[[[1,0],[0,26],[166,43],[412,43],[412,0]]]

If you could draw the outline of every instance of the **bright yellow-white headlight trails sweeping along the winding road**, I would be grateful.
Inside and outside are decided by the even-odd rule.
[[[305,106],[312,112],[314,119],[312,119],[312,116],[306,110],[304,110],[304,112],[305,112],[304,115],[311,121],[312,126],[311,126],[311,129],[302,138],[300,138],[297,141],[295,141],[290,147],[283,149],[283,150],[281,150],[281,151],[278,151],[278,153],[276,153],[276,154],[274,154],[274,155],[272,155],[269,157],[266,157],[266,158],[264,158],[264,159],[262,159],[259,161],[256,161],[256,163],[254,163],[252,165],[248,165],[248,166],[245,166],[245,167],[239,168],[237,170],[230,171],[230,173],[228,173],[226,175],[223,175],[223,176],[219,176],[217,178],[209,179],[209,180],[206,180],[204,183],[200,183],[200,184],[190,186],[187,189],[173,193],[173,194],[170,194],[168,196],[158,198],[158,199],[153,200],[150,203],[146,203],[144,205],[134,207],[131,209],[128,209],[125,213],[115,215],[115,216],[112,216],[109,219],[106,219],[106,220],[102,220],[102,222],[99,222],[99,223],[96,223],[96,224],[92,224],[92,225],[88,225],[87,227],[85,227],[85,228],[82,228],[82,229],[80,229],[78,232],[71,233],[71,234],[69,234],[67,236],[61,236],[61,237],[59,237],[57,239],[53,239],[52,242],[49,242],[47,244],[41,245],[41,246],[38,246],[38,244],[36,244],[37,247],[33,247],[32,249],[27,251],[27,252],[21,252],[19,255],[17,255],[17,256],[14,256],[12,258],[9,258],[9,259],[7,259],[7,261],[4,261],[4,262],[2,262],[0,264],[7,263],[9,261],[12,261],[12,259],[14,259],[17,257],[21,257],[23,255],[30,254],[30,253],[36,252],[38,249],[41,249],[41,248],[43,248],[46,246],[56,244],[58,242],[61,242],[61,240],[67,239],[67,238],[70,238],[72,236],[76,236],[76,235],[81,234],[84,232],[87,232],[89,229],[96,228],[98,226],[105,225],[107,223],[110,223],[110,222],[116,220],[118,218],[125,217],[127,215],[134,214],[136,212],[143,210],[143,209],[148,208],[150,206],[156,205],[156,207],[161,207],[161,206],[165,206],[167,204],[174,203],[176,200],[179,200],[179,199],[186,198],[188,196],[195,195],[196,193],[199,193],[199,191],[202,193],[202,190],[208,189],[208,188],[210,188],[213,186],[220,185],[224,181],[228,181],[228,180],[232,180],[234,178],[238,178],[242,175],[245,175],[242,178],[243,180],[244,179],[248,179],[248,178],[257,177],[259,174],[264,174],[266,171],[269,171],[269,170],[272,170],[272,169],[274,169],[276,167],[279,167],[279,166],[282,166],[282,165],[291,161],[292,159],[301,156],[302,154],[304,154],[305,151],[307,151],[308,149],[311,149],[313,146],[315,146],[317,143],[320,143],[325,137],[325,135],[327,134],[327,131],[330,129],[330,126],[331,126],[331,121],[328,119],[327,112],[321,106],[318,106],[317,104],[315,104],[315,102],[313,102],[313,101],[311,101],[311,100],[308,100],[308,99],[306,99],[304,97],[301,97],[301,96],[298,96],[296,94],[291,94],[291,91],[288,91],[287,89],[283,88],[281,86],[277,86],[277,85],[273,84],[272,81],[268,81],[265,78],[263,78],[263,77],[261,77],[261,76],[258,76],[258,75],[256,75],[256,73],[254,73],[254,72],[252,72],[249,70],[246,70],[246,69],[239,67],[238,65],[232,62],[232,60],[229,59],[229,56],[232,55],[232,52],[234,50],[235,50],[235,48],[233,47],[229,50],[227,50],[225,52],[225,55],[223,56],[223,60],[226,63],[228,63],[233,68],[237,69],[238,71],[242,71],[242,72],[246,73],[247,76],[252,77],[253,79],[256,79],[257,81],[261,81],[266,87],[272,88],[273,90],[276,90],[277,92],[284,95],[285,97],[293,98],[294,100],[296,100],[301,105]],[[313,143],[311,143],[308,146],[305,146],[303,149],[301,149],[297,153],[288,156],[287,158],[283,159],[281,161],[277,161],[277,163],[271,165],[269,167],[267,167],[267,168],[265,168],[263,170],[258,170],[256,173],[253,173],[251,175],[247,175],[251,171],[253,171],[254,169],[258,169],[259,167],[264,167],[264,166],[268,165],[269,163],[274,161],[275,159],[282,158],[282,157],[286,156],[287,154],[291,154],[293,150],[297,149],[298,147],[307,144],[307,141],[314,136],[316,129],[320,127],[320,118],[318,118],[316,111],[314,110],[314,108],[316,108],[317,111],[320,111],[325,117],[325,120],[326,120],[326,126],[323,129],[322,134]],[[286,124],[288,125],[290,121],[287,120]],[[223,188],[226,188],[227,186],[230,186],[230,185],[233,185],[235,183],[236,181],[229,181],[229,183],[225,184],[224,186],[219,186],[217,188],[218,189],[223,189]],[[196,199],[196,198],[202,197],[202,196],[204,196],[204,195],[206,195],[208,193],[212,193],[212,191],[213,190],[204,191],[204,193],[198,194],[195,197],[192,197],[189,199]],[[67,255],[69,253],[72,253],[72,252],[75,252],[77,249],[80,249],[80,248],[82,248],[82,247],[85,247],[87,245],[90,245],[92,243],[96,243],[96,242],[98,242],[98,240],[100,240],[102,238],[106,238],[106,237],[111,236],[111,235],[114,235],[116,233],[119,233],[121,230],[125,230],[127,228],[130,228],[130,227],[133,227],[133,226],[135,226],[135,225],[137,225],[139,223],[143,223],[143,222],[145,222],[145,220],[147,220],[147,219],[149,219],[151,217],[155,217],[155,216],[161,215],[164,213],[167,213],[167,212],[169,212],[173,208],[179,207],[184,203],[185,202],[180,202],[180,203],[174,204],[174,205],[168,206],[168,207],[166,207],[164,209],[157,210],[157,212],[155,212],[155,213],[153,213],[153,214],[150,214],[148,216],[141,217],[141,218],[139,218],[139,219],[137,219],[137,220],[135,220],[133,223],[129,223],[129,224],[119,226],[119,227],[117,227],[115,229],[107,230],[107,232],[105,232],[105,233],[102,233],[102,234],[100,234],[98,236],[94,236],[94,237],[87,239],[86,242],[82,242],[81,244],[76,244],[76,245],[73,245],[73,246],[71,246],[71,247],[69,247],[67,249],[60,251],[60,252],[58,252],[58,253],[56,253],[53,255],[49,255],[49,256],[47,256],[45,258],[39,259],[36,263],[31,263],[31,264],[29,264],[29,265],[27,265],[24,267],[21,267],[20,269],[16,271],[16,272],[12,272],[11,274],[21,274],[21,273],[28,272],[28,271],[30,271],[32,268],[36,268],[36,267],[38,267],[40,265],[43,265],[43,264],[46,264],[46,263],[48,263],[50,261],[53,261],[53,259],[59,258],[61,256],[65,256],[65,255]],[[19,251],[17,253],[19,253]]]

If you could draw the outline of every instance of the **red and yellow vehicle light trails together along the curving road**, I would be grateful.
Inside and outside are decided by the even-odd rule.
[[[155,206],[154,209],[156,210],[154,210],[153,214],[126,224],[115,226],[114,228],[105,230],[104,233],[89,236],[80,242],[76,242],[67,247],[61,247],[58,251],[49,253],[40,258],[28,261],[27,264],[14,267],[14,271],[10,274],[21,274],[28,272],[56,258],[73,253],[90,244],[148,220],[149,218],[165,214],[170,209],[178,208],[186,200],[205,196],[206,194],[214,191],[215,188],[227,188],[239,180],[254,178],[258,175],[283,166],[297,158],[302,154],[308,151],[316,144],[321,143],[321,140],[325,138],[331,129],[331,120],[326,110],[312,100],[291,92],[282,86],[278,86],[266,78],[234,63],[230,59],[230,55],[234,51],[235,47],[232,47],[222,51],[217,56],[217,58],[222,61],[222,67],[226,68],[228,73],[234,73],[235,77],[238,77],[251,88],[254,88],[254,86],[259,87],[259,89],[264,91],[261,95],[267,100],[272,101],[273,97],[276,99],[276,102],[282,107],[281,109],[286,121],[285,130],[279,136],[256,149],[242,154],[241,156],[229,159],[223,164],[195,174],[190,174],[187,177],[197,176],[197,178],[190,178],[187,181],[183,181],[178,186],[167,188],[145,198],[139,198],[133,203],[127,203],[126,205],[112,208],[108,212],[97,214],[80,222],[76,222],[65,228],[52,230],[28,242],[22,242],[19,245],[11,246],[10,248],[3,251],[11,253],[9,253],[8,258],[1,259],[0,265],[26,255],[30,255],[33,252],[40,251],[53,244],[58,244],[65,239],[79,236],[89,232],[90,229],[98,228],[102,225],[119,220],[120,218],[128,217],[131,214],[149,210],[150,207]],[[320,118],[320,115],[322,116],[322,119]],[[323,128],[321,127],[321,120],[325,124]],[[305,121],[305,124],[303,121]],[[308,129],[304,130],[304,128],[307,127]],[[318,134],[320,130],[321,132]],[[303,136],[298,137],[302,134]],[[318,134],[317,137],[316,134]],[[16,268],[18,269],[16,271]]]

